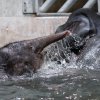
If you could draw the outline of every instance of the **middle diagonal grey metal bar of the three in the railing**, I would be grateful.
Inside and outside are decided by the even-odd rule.
[[[64,5],[58,10],[59,13],[68,11],[78,0],[67,0]]]

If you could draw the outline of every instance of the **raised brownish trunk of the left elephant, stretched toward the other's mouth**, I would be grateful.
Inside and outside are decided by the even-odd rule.
[[[46,46],[64,38],[66,35],[69,34],[70,34],[69,31],[64,31],[59,34],[53,34],[53,35],[37,38],[35,41],[37,44],[35,47],[35,53],[40,53]]]

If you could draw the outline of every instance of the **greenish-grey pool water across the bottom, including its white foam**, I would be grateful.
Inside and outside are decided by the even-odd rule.
[[[1,74],[0,100],[100,100],[99,71],[51,65],[31,77]]]

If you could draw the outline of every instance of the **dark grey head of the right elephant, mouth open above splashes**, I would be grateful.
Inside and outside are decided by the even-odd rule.
[[[72,52],[79,54],[86,41],[97,34],[99,19],[90,9],[78,9],[69,16],[65,24],[57,28],[56,33],[69,30],[72,35],[61,41],[64,47],[69,47]]]

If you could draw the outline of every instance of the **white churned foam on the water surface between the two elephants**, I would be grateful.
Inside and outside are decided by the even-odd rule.
[[[65,59],[60,61],[61,64],[57,64],[56,61],[47,61],[45,62],[42,67],[38,70],[37,74],[39,77],[52,77],[52,76],[58,76],[63,75],[70,69],[77,69],[78,66],[76,65],[76,57],[74,56],[73,59],[71,59],[71,62],[66,63]]]

